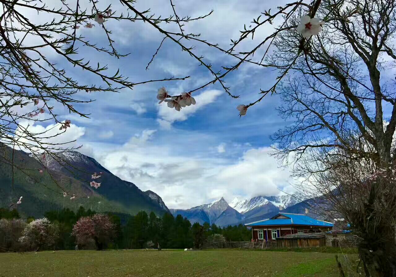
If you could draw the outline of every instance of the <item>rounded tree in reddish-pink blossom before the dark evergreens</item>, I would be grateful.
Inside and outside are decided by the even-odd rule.
[[[79,245],[88,245],[94,241],[96,249],[102,250],[114,237],[114,224],[105,214],[82,217],[74,224],[72,235]]]

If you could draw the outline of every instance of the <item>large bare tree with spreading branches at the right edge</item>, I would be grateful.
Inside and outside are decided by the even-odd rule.
[[[360,233],[367,276],[396,276],[395,5],[324,0],[324,30],[282,32],[268,60],[289,70],[279,111],[296,119],[272,137],[276,154]]]

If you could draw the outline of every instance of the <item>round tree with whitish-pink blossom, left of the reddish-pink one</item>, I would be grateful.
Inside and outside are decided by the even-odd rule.
[[[19,242],[27,250],[45,250],[52,247],[57,238],[57,226],[44,217],[27,224]]]

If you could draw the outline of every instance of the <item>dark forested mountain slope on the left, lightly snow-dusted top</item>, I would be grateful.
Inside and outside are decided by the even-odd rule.
[[[53,209],[78,209],[82,206],[97,212],[117,212],[136,214],[141,210],[161,215],[169,212],[161,197],[152,191],[143,192],[132,182],[121,180],[100,165],[92,157],[80,152],[66,150],[56,153],[53,157],[32,157],[15,150],[15,164],[29,169],[29,175],[23,170],[15,169],[12,184],[10,160],[12,149],[8,146],[0,148],[0,207],[8,207],[15,203],[14,199],[23,196],[23,201],[16,207],[24,216],[41,217],[46,211]],[[46,168],[43,169],[38,159],[42,159]],[[37,170],[31,170],[37,169]],[[39,169],[43,173],[39,173]],[[101,186],[94,189],[89,182],[93,173],[103,172],[95,179]],[[50,174],[49,174],[50,173]],[[29,177],[31,176],[31,177]],[[63,197],[65,189],[70,195]],[[47,188],[46,188],[47,187]],[[10,189],[11,188],[11,189]],[[49,188],[49,189],[48,189]],[[70,196],[77,197],[70,200]]]

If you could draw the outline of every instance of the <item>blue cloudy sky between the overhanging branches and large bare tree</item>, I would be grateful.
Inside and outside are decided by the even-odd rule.
[[[261,11],[276,9],[282,2],[206,0],[197,4],[195,0],[175,0],[174,4],[179,16],[194,17],[213,9],[212,15],[206,19],[188,23],[184,28],[186,32],[200,33],[201,39],[227,48],[230,39],[240,36],[239,30],[244,28],[244,24],[251,25],[252,19],[257,18]],[[48,3],[51,6],[51,2]],[[97,5],[105,9],[109,3],[99,0]],[[162,17],[173,13],[169,1],[165,0],[140,0],[135,7],[140,10],[150,8],[151,13]],[[125,13],[125,8],[118,3],[112,4],[112,10],[116,14]],[[32,20],[45,20],[30,16]],[[95,100],[75,105],[80,111],[90,114],[90,118],[69,115],[62,106],[55,106],[60,119],[72,121],[71,127],[57,137],[58,140],[76,139],[74,145],[82,145],[80,152],[95,158],[114,175],[133,182],[141,190],[156,192],[169,208],[186,209],[220,197],[231,202],[235,197],[247,199],[293,192],[296,181],[271,156],[274,142],[269,136],[292,123],[278,115],[279,97],[268,95],[241,118],[236,110],[238,104],[255,101],[260,89],[268,89],[275,81],[276,72],[244,64],[225,78],[231,93],[240,95],[239,99],[229,97],[216,83],[193,94],[196,105],[177,112],[165,103],[158,104],[158,88],[164,86],[169,93],[180,94],[211,80],[208,70],[170,40],[164,42],[149,69],[145,70],[163,36],[141,22],[107,20],[105,25],[112,30],[118,51],[130,55],[114,59],[86,47],[79,50],[79,55],[93,63],[108,64],[110,72],[120,68],[131,82],[171,76],[191,77],[185,81],[138,85],[133,90],[122,89],[119,93],[81,92],[76,95],[78,99]],[[177,31],[176,25],[161,26]],[[240,50],[262,40],[271,30],[272,25],[262,28],[255,34],[255,40],[247,40]],[[92,42],[107,46],[105,32],[97,24],[94,28],[80,28],[77,32]],[[215,71],[235,63],[235,59],[213,48],[183,42],[187,46],[195,46],[194,53],[204,56]],[[65,66],[69,74],[81,83],[98,81],[62,59],[58,60],[59,57],[51,51],[48,51],[48,56],[58,65]],[[39,131],[52,126],[35,123],[30,128]]]

